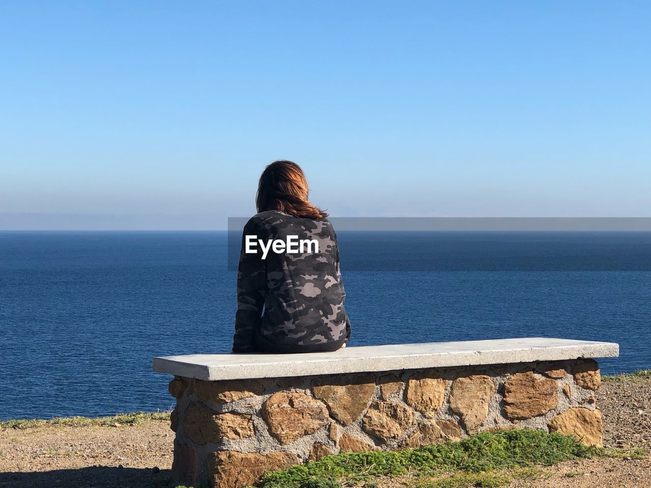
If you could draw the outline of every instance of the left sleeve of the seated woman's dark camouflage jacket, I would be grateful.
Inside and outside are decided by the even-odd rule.
[[[255,350],[254,335],[262,317],[264,297],[266,295],[266,262],[260,254],[247,254],[246,236],[259,236],[260,229],[252,221],[246,224],[242,232],[242,251],[238,266],[238,310],[235,314],[235,334],[233,352],[249,353]]]

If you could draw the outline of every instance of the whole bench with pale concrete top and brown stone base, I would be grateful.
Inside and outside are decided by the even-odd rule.
[[[553,338],[346,347],[334,353],[157,357],[174,375],[174,481],[238,488],[338,452],[413,448],[529,427],[602,444],[594,357]]]

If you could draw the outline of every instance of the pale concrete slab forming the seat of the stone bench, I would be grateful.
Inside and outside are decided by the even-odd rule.
[[[217,381],[618,355],[619,346],[613,342],[527,337],[344,347],[333,353],[166,356],[154,358],[153,368],[158,373]]]

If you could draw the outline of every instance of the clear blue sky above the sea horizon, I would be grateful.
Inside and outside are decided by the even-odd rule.
[[[0,228],[224,228],[279,158],[333,215],[650,216],[649,25],[646,1],[5,1]]]

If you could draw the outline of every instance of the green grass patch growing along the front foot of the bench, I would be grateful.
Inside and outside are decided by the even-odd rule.
[[[584,446],[574,437],[558,433],[531,429],[483,432],[459,442],[417,449],[327,456],[314,463],[270,472],[262,477],[258,487],[337,488],[372,481],[381,476],[413,473],[421,478],[414,481],[419,488],[462,487],[463,483],[473,486],[468,484],[471,481],[477,486],[490,487],[490,483],[501,486],[499,483],[506,482],[507,478],[513,480],[516,471],[500,474],[500,470],[553,465],[568,459],[593,457],[600,455],[600,452],[598,448]],[[456,478],[453,475],[437,480],[424,479],[445,472],[456,472]]]

